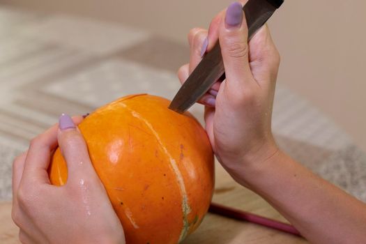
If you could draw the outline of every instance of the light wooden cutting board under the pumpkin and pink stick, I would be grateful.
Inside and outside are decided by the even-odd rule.
[[[239,208],[275,220],[287,222],[264,199],[235,183],[220,165],[216,167],[216,186],[213,201]],[[0,243],[13,244],[17,241],[18,229],[11,220],[11,203],[0,203]],[[280,231],[261,227],[249,222],[231,220],[208,213],[195,233],[184,244],[304,244],[305,239]]]

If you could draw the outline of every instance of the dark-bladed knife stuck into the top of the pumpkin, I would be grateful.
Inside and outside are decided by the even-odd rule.
[[[248,40],[267,22],[275,10],[280,8],[283,2],[284,0],[249,0],[245,3],[243,11],[247,20]],[[204,96],[211,86],[220,77],[223,77],[224,73],[220,44],[216,43],[176,93],[169,109],[183,114]]]

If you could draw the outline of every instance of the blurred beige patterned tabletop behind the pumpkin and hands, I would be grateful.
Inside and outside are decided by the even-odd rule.
[[[11,199],[15,155],[59,114],[85,114],[130,93],[172,98],[186,61],[188,47],[139,29],[0,7],[0,200]],[[199,119],[202,110],[192,107]],[[365,153],[281,84],[273,131],[293,158],[366,201]]]

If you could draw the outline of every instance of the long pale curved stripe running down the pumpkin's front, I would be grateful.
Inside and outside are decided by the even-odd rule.
[[[130,109],[125,104],[119,103],[119,105],[121,105],[128,112],[130,112],[130,114],[132,114],[132,116],[134,116],[135,118],[137,118],[140,121],[142,121],[142,122],[145,123],[145,125],[153,133],[156,141],[158,142],[159,146],[162,148],[162,151],[169,158],[169,162],[170,162],[171,168],[173,169],[174,174],[176,175],[176,181],[178,183],[178,187],[179,187],[179,190],[181,191],[181,196],[182,196],[183,228],[182,228],[182,231],[181,231],[181,235],[179,236],[179,241],[178,242],[180,243],[188,235],[188,231],[190,229],[190,223],[188,222],[188,214],[191,211],[190,205],[188,204],[188,195],[187,195],[187,191],[185,190],[185,183],[184,183],[184,180],[183,180],[183,176],[181,174],[181,171],[179,170],[178,165],[176,164],[176,160],[174,160],[174,158],[170,155],[169,151],[167,150],[167,147],[164,146],[164,144],[162,144],[162,141],[161,141],[161,139],[159,137],[159,134],[153,128],[153,125],[151,125],[151,123],[149,123],[146,119],[144,119],[144,117],[142,117],[141,114],[139,114],[138,112],[136,112],[133,109]],[[134,223],[132,223],[132,225],[134,225]]]

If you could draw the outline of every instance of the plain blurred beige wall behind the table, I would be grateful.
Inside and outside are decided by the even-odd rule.
[[[186,42],[231,1],[2,0],[13,6],[123,22]],[[279,82],[333,118],[366,151],[366,1],[287,0],[270,20]],[[67,37],[66,37],[67,38]],[[178,67],[177,67],[178,68]]]

